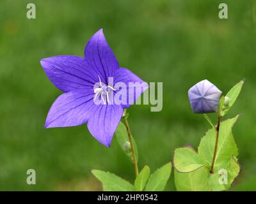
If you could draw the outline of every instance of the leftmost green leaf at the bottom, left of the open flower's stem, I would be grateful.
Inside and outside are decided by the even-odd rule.
[[[134,187],[113,173],[92,170],[93,175],[102,182],[103,191],[133,191]]]

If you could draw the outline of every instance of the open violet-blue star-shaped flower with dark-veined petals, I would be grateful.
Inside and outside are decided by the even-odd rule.
[[[61,94],[51,106],[45,128],[79,126],[87,122],[90,133],[100,143],[110,147],[113,134],[122,118],[124,108],[136,101],[147,89],[143,80],[125,68],[120,68],[109,47],[102,29],[95,33],[84,49],[84,57],[60,55],[41,60],[47,77]],[[113,84],[109,84],[113,78]],[[140,94],[132,94],[132,103],[116,105],[110,97],[119,91],[115,84],[123,82],[129,89],[129,82],[139,82]],[[136,87],[134,87],[136,89]],[[95,103],[101,101],[102,103]]]

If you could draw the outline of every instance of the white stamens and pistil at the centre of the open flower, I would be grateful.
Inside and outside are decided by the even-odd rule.
[[[104,83],[101,82],[100,80],[100,76],[99,77],[99,85],[97,85],[94,88],[94,98],[95,99],[102,99],[103,104],[106,105],[107,103],[109,103],[109,96],[111,94],[111,91],[116,91],[116,89],[114,89],[113,87],[111,87],[110,85],[106,85]]]

